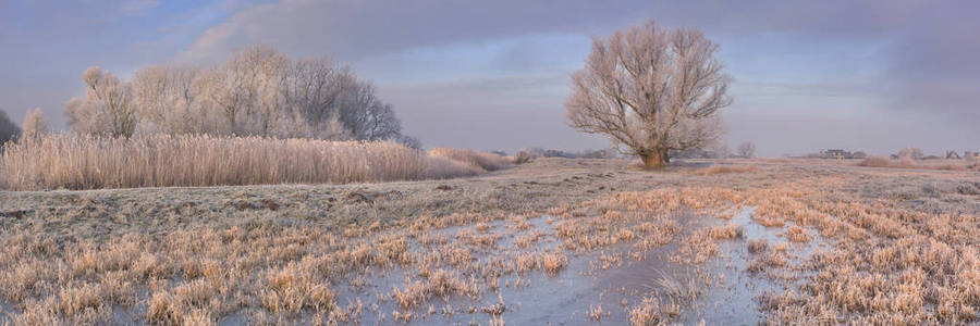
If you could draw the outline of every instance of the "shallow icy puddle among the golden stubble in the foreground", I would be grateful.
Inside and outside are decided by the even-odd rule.
[[[630,309],[641,304],[645,297],[653,297],[663,310],[676,312],[666,321],[670,323],[698,324],[705,321],[708,324],[758,324],[762,317],[758,297],[767,292],[780,292],[786,285],[771,280],[765,276],[767,272],[748,271],[749,263],[758,253],[749,252],[747,241],[764,239],[770,247],[787,243],[788,259],[781,269],[798,266],[816,248],[825,246],[825,242],[812,230],[814,236],[809,242],[789,242],[781,236],[788,225],[764,227],[752,221],[751,214],[752,209],[749,208],[728,221],[709,216],[682,217],[687,218],[683,223],[686,225],[682,236],[675,237],[669,244],[646,251],[642,260],[638,261],[633,256],[633,242],[584,253],[565,251],[568,264],[556,275],[543,272],[504,275],[499,278],[500,287],[497,290],[481,287],[479,299],[453,296],[449,302],[433,299],[420,308],[407,311],[414,314],[412,322],[422,324],[485,324],[492,319],[512,325],[623,325],[629,323]],[[538,250],[558,248],[562,240],[546,221],[547,217],[543,216],[529,218],[527,223],[531,227],[522,231],[514,231],[509,227],[510,221],[495,221],[489,223],[489,227],[485,225],[480,234],[493,236],[497,249],[482,250],[475,259],[489,259],[498,250],[515,246],[514,239],[517,236],[532,231],[543,235],[542,240],[534,244]],[[738,227],[739,237],[715,240],[719,251],[712,259],[702,264],[671,260],[671,256],[677,254],[679,242],[686,240],[686,235],[701,228],[727,224]],[[449,227],[436,234],[451,238],[466,234],[473,227]],[[604,264],[610,260],[616,263]],[[603,265],[605,269],[602,268]],[[403,286],[405,276],[405,272],[401,269],[376,275],[368,281],[371,286],[356,291],[342,290],[339,303],[353,300],[345,298],[360,298],[366,305],[360,319],[363,324],[391,323],[393,311],[406,310],[400,309],[390,299],[380,300],[381,303],[373,306],[368,302],[378,302],[382,293]],[[803,279],[800,277],[798,281]],[[514,286],[515,284],[519,285]],[[430,306],[436,309],[434,313]],[[498,308],[493,312],[485,310],[493,306]],[[444,308],[451,308],[453,313],[445,314]],[[500,315],[494,315],[497,313]]]

